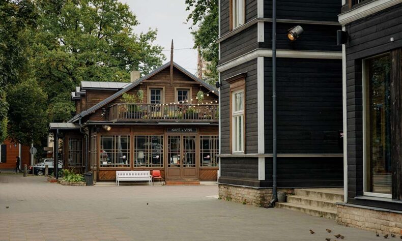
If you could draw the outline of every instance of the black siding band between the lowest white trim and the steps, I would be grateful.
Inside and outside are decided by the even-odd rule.
[[[272,187],[272,158],[265,159],[265,182]],[[343,187],[343,158],[278,158],[278,188]]]

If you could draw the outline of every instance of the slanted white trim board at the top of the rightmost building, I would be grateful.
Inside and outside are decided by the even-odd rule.
[[[351,9],[348,12],[339,14],[338,21],[340,24],[345,25],[400,3],[402,3],[402,0],[371,1],[354,9]]]

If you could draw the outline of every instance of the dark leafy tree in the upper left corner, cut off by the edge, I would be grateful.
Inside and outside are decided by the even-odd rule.
[[[36,24],[35,5],[29,0],[0,1],[0,143],[7,137],[6,86],[29,73],[27,29]]]

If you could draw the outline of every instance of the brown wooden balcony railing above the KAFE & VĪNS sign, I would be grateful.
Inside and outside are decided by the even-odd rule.
[[[126,104],[109,107],[108,120],[134,122],[218,122],[218,105]]]

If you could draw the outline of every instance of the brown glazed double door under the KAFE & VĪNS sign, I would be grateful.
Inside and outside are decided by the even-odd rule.
[[[167,136],[167,179],[197,179],[196,136]]]

